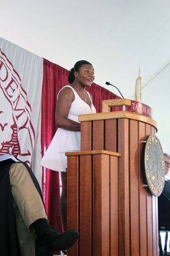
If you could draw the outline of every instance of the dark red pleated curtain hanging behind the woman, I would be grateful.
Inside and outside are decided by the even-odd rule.
[[[61,87],[68,84],[68,70],[48,60],[43,60],[42,87],[42,156],[56,132],[55,110],[56,99]],[[97,112],[102,112],[102,100],[119,98],[98,84],[93,83],[88,89],[93,97]],[[61,231],[59,212],[59,172],[44,168],[42,179],[43,196],[50,225]]]

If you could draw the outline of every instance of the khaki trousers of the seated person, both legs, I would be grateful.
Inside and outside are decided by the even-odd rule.
[[[40,218],[47,219],[42,199],[24,164],[11,165],[10,183],[20,252],[22,256],[34,256],[36,235],[30,225]]]

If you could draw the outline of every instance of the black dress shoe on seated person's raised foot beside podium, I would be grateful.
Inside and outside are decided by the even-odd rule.
[[[35,250],[46,248],[47,251],[68,250],[78,239],[79,233],[76,230],[68,230],[64,233],[59,233],[55,230],[48,230],[44,234],[37,236]]]

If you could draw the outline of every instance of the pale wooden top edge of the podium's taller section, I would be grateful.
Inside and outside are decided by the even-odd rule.
[[[138,113],[131,113],[129,111],[113,111],[113,112],[105,112],[105,113],[80,115],[79,122],[118,119],[118,118],[128,118],[132,120],[141,121],[141,122],[153,125],[157,129],[157,122],[153,120],[153,118],[150,118],[148,116],[144,116]]]

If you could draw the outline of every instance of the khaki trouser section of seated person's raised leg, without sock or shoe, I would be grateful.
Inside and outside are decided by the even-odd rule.
[[[27,228],[40,218],[47,219],[42,199],[24,164],[12,164],[10,183],[13,198]]]

